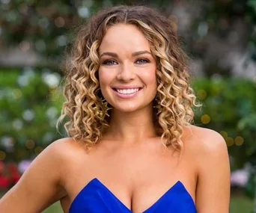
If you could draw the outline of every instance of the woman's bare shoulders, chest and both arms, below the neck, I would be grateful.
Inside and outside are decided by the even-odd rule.
[[[186,128],[180,161],[159,138],[117,142],[101,141],[87,153],[70,138],[55,141],[0,200],[0,212],[41,212],[61,200],[66,213],[94,177],[135,213],[153,205],[177,180],[185,185],[198,212],[228,212],[228,153],[218,133]]]

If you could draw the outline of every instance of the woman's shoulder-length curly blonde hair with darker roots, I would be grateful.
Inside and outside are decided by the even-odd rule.
[[[191,123],[192,106],[198,104],[189,87],[187,57],[180,48],[174,25],[150,7],[102,9],[79,28],[67,63],[66,102],[58,122],[68,117],[69,121],[64,124],[68,135],[88,148],[100,141],[104,129],[109,127],[111,116],[107,116],[102,94],[98,93],[98,49],[107,29],[118,23],[135,25],[150,43],[157,65],[154,116],[158,133],[166,147],[173,146],[180,151],[183,126]]]

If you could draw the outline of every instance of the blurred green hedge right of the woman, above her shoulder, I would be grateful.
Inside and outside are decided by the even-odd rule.
[[[194,87],[203,105],[195,111],[195,124],[219,132],[231,154],[231,169],[243,167],[256,153],[256,82],[215,75],[195,80]]]

